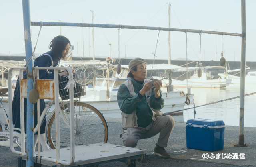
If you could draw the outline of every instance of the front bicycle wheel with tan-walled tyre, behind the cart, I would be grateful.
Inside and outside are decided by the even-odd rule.
[[[64,104],[64,114],[70,122],[69,109]],[[74,102],[74,137],[75,146],[87,145],[108,141],[108,126],[103,115],[93,106],[83,103]],[[48,118],[46,124],[46,138],[52,149],[55,147],[55,110]],[[60,148],[70,147],[70,128],[60,117]]]

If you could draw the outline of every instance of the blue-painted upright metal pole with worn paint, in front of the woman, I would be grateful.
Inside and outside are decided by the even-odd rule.
[[[30,22],[30,5],[29,0],[22,0],[23,8],[23,23],[24,23],[24,38],[26,61],[28,62],[32,55],[32,41],[31,41],[31,22]],[[27,99],[30,90],[33,89],[34,73],[32,67],[34,66],[33,59],[30,59],[27,67]],[[27,167],[34,167],[33,149],[34,149],[34,104],[27,100]]]

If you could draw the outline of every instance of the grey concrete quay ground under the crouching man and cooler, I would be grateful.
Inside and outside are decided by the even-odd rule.
[[[2,119],[2,116],[0,116]],[[106,118],[108,122],[108,143],[121,145],[120,134],[122,133],[121,119]],[[163,159],[152,155],[158,135],[150,139],[139,140],[136,148],[147,149],[146,163],[137,162],[137,167],[256,167],[256,128],[244,128],[244,142],[248,147],[234,147],[238,141],[238,126],[226,126],[224,149],[214,152],[201,151],[186,148],[185,123],[175,122],[174,130],[169,138],[166,150],[171,154],[170,159]],[[214,154],[214,159],[204,160],[203,153]],[[216,154],[245,153],[245,159],[216,159]],[[239,158],[239,156],[238,156]],[[13,154],[8,147],[0,147],[0,167],[17,167],[17,155]],[[42,165],[42,167],[46,167]],[[122,162],[111,162],[99,165],[99,167],[126,167]]]

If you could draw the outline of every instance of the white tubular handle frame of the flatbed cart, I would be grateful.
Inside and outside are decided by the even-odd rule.
[[[45,70],[45,69],[48,69],[48,70],[54,70],[54,98],[55,99],[58,99],[58,96],[59,96],[59,80],[58,80],[58,70],[67,70],[68,71],[68,74],[69,74],[69,81],[72,82],[72,79],[73,79],[73,73],[72,73],[72,70],[68,67],[33,67],[33,71],[35,70],[37,72],[37,77],[39,77],[39,70]],[[14,67],[14,68],[10,68],[9,71],[8,71],[8,78],[11,77],[11,74],[12,74],[12,71],[13,70],[19,70],[20,72],[20,75],[19,75],[19,80],[21,81],[23,79],[23,70],[26,70],[25,67]],[[39,79],[39,78],[38,78]],[[11,90],[12,89],[12,81],[9,79],[8,80],[8,89]],[[20,82],[21,84],[21,82]],[[25,86],[26,87],[26,86]],[[21,125],[20,125],[20,129],[21,129],[21,138],[20,138],[20,143],[21,143],[21,151],[16,151],[14,149],[14,145],[13,145],[13,130],[14,128],[12,127],[12,103],[9,102],[9,116],[10,116],[10,123],[9,123],[9,128],[10,128],[10,149],[13,153],[16,153],[16,154],[19,154],[19,155],[23,155],[23,156],[28,156],[28,152],[30,152],[30,150],[28,149],[28,146],[27,146],[27,151],[25,151],[25,130],[24,130],[24,98],[22,98],[22,87],[20,86],[20,122],[21,122]],[[47,90],[44,90],[46,91],[47,93]],[[48,90],[49,91],[49,90]],[[46,161],[50,161],[50,162],[54,162],[54,163],[62,163],[64,165],[70,165],[74,162],[74,152],[75,152],[75,146],[74,146],[74,88],[73,88],[73,84],[70,84],[70,88],[69,88],[69,94],[70,94],[70,141],[71,141],[71,144],[70,144],[70,156],[71,156],[71,159],[70,161],[61,161],[60,160],[60,124],[58,123],[59,122],[59,109],[60,109],[60,106],[59,106],[59,103],[58,102],[55,102],[55,120],[56,120],[56,160],[53,160],[53,159],[50,159],[48,157],[42,157],[42,160],[46,160]],[[53,92],[50,92],[51,95],[53,94]],[[12,99],[12,94],[9,93],[8,94],[8,98],[9,99]],[[27,100],[29,102],[29,100]],[[38,103],[38,125],[40,125],[40,105],[39,105],[39,99],[37,101]],[[34,107],[34,104],[32,104],[33,107]],[[32,121],[33,121],[33,134],[32,134],[32,137],[34,138],[34,110],[33,110],[33,115],[32,115]],[[27,122],[28,122],[28,118],[27,118]],[[40,134],[40,126],[37,126],[38,127],[38,134]],[[27,130],[28,132],[28,130]],[[28,145],[28,138],[30,136],[28,136],[28,133],[27,133],[27,145]],[[33,147],[32,147],[32,158],[33,158],[33,148],[34,148],[34,139],[33,139]],[[31,144],[31,143],[30,143]],[[38,140],[38,156],[40,157],[40,138]],[[33,159],[34,161],[34,159]],[[27,161],[28,163],[28,161]],[[34,162],[33,164],[34,165]],[[27,165],[28,166],[28,165]],[[30,165],[31,166],[31,165]]]

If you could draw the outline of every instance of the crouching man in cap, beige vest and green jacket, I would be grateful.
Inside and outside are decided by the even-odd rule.
[[[120,135],[122,145],[136,147],[138,140],[151,138],[160,133],[153,154],[170,158],[164,147],[167,147],[174,128],[174,119],[172,116],[162,116],[160,112],[164,107],[160,90],[162,82],[156,81],[152,85],[152,80],[146,79],[146,64],[144,59],[132,59],[129,63],[130,72],[127,75],[131,79],[121,84],[117,93],[124,126]]]

